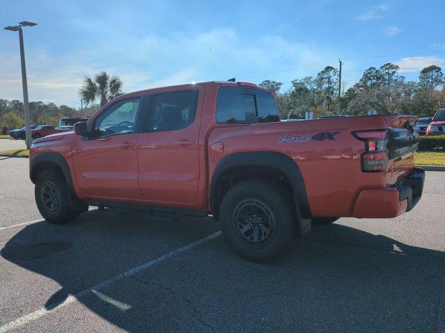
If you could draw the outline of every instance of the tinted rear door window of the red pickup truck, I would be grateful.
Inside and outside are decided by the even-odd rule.
[[[198,94],[198,90],[186,90],[154,96],[145,132],[180,130],[193,123]]]

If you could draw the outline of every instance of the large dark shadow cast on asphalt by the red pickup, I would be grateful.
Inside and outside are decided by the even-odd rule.
[[[0,254],[60,284],[51,309],[216,230],[210,218],[90,211],[69,225],[28,225]],[[268,265],[236,257],[218,237],[79,302],[129,332],[429,332],[443,315],[444,267],[442,251],[333,224]]]

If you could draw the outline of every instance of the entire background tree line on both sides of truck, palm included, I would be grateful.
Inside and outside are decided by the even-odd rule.
[[[431,117],[437,109],[445,107],[445,76],[441,67],[432,65],[422,69],[418,82],[406,80],[398,70],[398,65],[390,62],[366,69],[362,78],[341,94],[341,114],[364,115],[375,111]],[[77,110],[67,105],[34,101],[29,103],[31,123],[57,125],[61,117],[88,117],[99,106],[122,94],[122,85],[118,76],[110,76],[105,71],[92,78],[86,75],[79,89],[86,108]],[[281,92],[282,83],[275,80],[264,80],[259,86],[275,95],[282,119],[304,119],[307,111],[314,112],[314,117],[337,112],[339,71],[334,67],[325,67],[315,77],[293,80],[286,92]],[[0,128],[6,125],[24,126],[21,101],[0,99]]]

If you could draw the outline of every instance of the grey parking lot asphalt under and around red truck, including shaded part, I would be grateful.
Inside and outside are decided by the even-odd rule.
[[[444,203],[427,172],[412,212],[313,227],[252,264],[211,217],[23,225],[41,219],[28,160],[0,157],[0,332],[445,332]]]

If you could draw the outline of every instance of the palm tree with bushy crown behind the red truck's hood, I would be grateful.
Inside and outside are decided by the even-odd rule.
[[[93,103],[100,99],[100,106],[104,106],[108,101],[122,94],[124,83],[118,76],[109,76],[106,71],[95,74],[94,79],[86,75],[83,77],[83,86],[79,90],[81,101]]]

